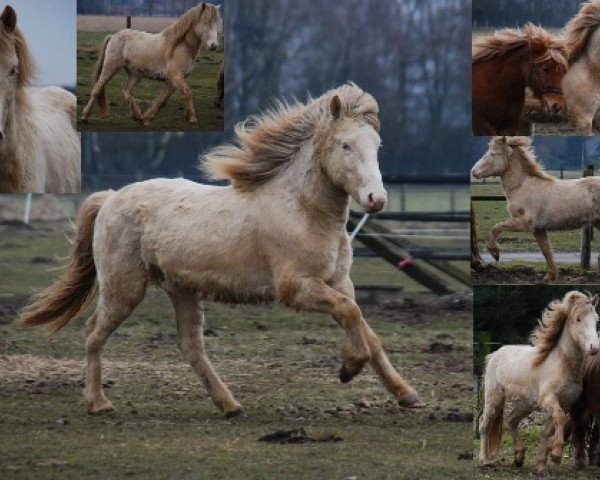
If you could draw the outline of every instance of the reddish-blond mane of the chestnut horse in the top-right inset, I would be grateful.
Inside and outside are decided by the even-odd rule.
[[[533,23],[527,23],[522,29],[504,28],[475,42],[471,62],[488,62],[524,47],[529,47],[527,50],[531,51],[532,44],[541,46],[544,51],[536,57],[536,63],[553,60],[560,68],[567,70],[567,49],[564,43]]]

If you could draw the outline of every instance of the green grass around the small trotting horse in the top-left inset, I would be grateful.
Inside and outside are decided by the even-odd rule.
[[[98,58],[98,47],[107,32],[77,32],[77,110],[78,118],[85,107],[92,89],[92,71]],[[110,115],[101,115],[98,106],[92,110],[88,123],[78,123],[80,131],[222,131],[224,125],[223,107],[215,107],[213,100],[217,93],[217,74],[223,60],[223,39],[220,39],[216,52],[200,50],[196,68],[186,79],[194,95],[194,107],[198,125],[190,125],[185,118],[185,100],[181,92],[175,92],[167,105],[159,111],[151,126],[145,127],[131,117],[129,105],[123,98],[127,74],[121,70],[108,83],[107,95],[110,102]],[[142,80],[135,90],[135,98],[144,112],[162,92],[163,82]]]

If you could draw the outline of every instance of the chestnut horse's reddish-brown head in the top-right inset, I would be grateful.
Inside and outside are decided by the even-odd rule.
[[[567,49],[548,37],[529,40],[530,61],[526,67],[527,86],[541,100],[544,110],[559,113],[565,107],[562,79],[567,72]]]

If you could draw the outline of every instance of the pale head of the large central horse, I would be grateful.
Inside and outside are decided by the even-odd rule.
[[[342,100],[334,95],[330,102],[330,132],[321,159],[321,168],[329,179],[359,203],[366,213],[383,209],[387,192],[383,186],[377,152],[381,138],[378,123],[361,114],[345,111]]]

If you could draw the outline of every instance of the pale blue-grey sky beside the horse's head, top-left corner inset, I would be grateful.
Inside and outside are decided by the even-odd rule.
[[[5,0],[17,12],[39,69],[36,85],[74,86],[76,66],[75,0]]]

